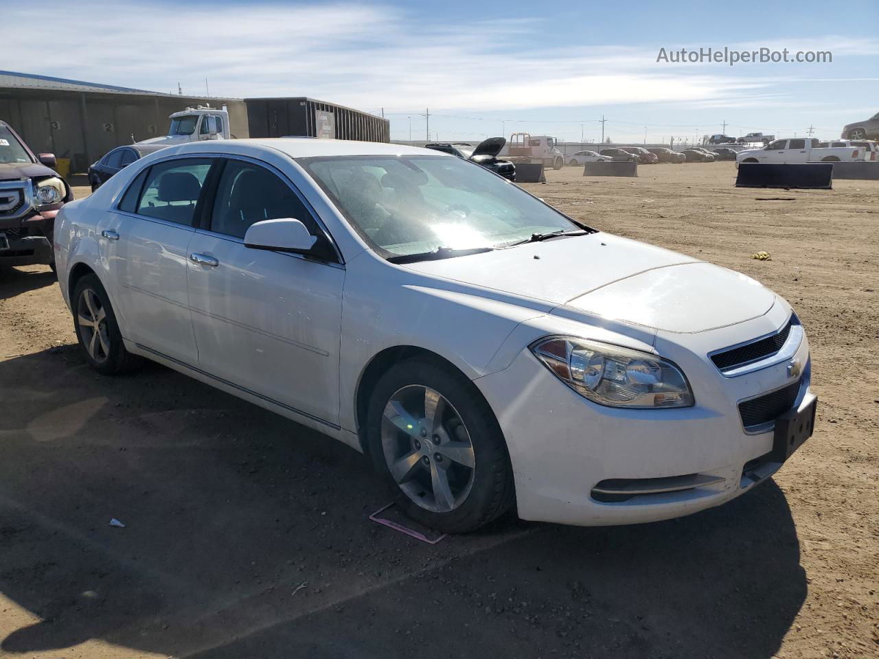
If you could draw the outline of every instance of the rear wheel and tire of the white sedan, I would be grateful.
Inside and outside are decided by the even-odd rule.
[[[71,301],[76,338],[89,366],[103,375],[119,375],[142,365],[141,357],[125,349],[110,298],[96,275],[76,282]]]

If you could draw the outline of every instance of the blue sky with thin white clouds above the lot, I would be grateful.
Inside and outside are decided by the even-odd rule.
[[[85,7],[86,5],[82,5]],[[309,96],[384,115],[391,138],[512,132],[667,142],[816,137],[879,112],[879,2],[0,0],[0,69],[217,97]],[[36,26],[36,27],[35,27]],[[29,37],[30,38],[30,37]],[[665,48],[829,51],[832,62],[658,61]],[[35,55],[38,54],[38,55]],[[724,126],[725,123],[725,126]]]

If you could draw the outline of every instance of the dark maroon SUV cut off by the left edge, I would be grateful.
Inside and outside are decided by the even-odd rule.
[[[34,156],[0,121],[0,265],[47,264],[54,270],[54,217],[73,191],[53,154]]]

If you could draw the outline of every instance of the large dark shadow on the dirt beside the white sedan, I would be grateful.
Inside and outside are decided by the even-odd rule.
[[[806,595],[774,482],[430,546],[368,520],[389,494],[360,453],[163,367],[63,346],[0,362],[0,396],[5,653],[770,657]]]

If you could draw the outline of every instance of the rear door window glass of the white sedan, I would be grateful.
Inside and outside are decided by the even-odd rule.
[[[193,226],[201,188],[214,161],[186,158],[156,163],[149,169],[136,213],[158,220]]]

